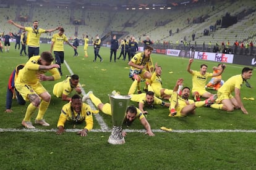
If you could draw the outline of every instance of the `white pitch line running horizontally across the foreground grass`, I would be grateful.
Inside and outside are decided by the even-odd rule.
[[[81,129],[65,129],[66,132],[79,132]],[[146,131],[144,129],[123,129],[126,132],[140,132],[145,133]],[[56,132],[57,129],[2,129],[0,128],[0,132]],[[163,131],[161,129],[152,129],[153,132],[169,132],[169,133],[226,133],[226,132],[246,132],[246,133],[256,133],[256,130],[244,130],[244,129],[198,129],[198,130],[173,130],[173,131]],[[109,132],[111,133],[111,130],[103,130],[103,129],[92,129],[90,132]]]

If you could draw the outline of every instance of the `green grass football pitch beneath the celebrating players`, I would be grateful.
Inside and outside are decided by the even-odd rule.
[[[40,52],[49,51],[49,44],[41,44]],[[72,73],[79,75],[84,92],[93,91],[103,103],[109,102],[108,94],[113,90],[126,95],[132,81],[129,79],[127,60],[109,62],[109,48],[101,47],[103,62],[93,62],[92,46],[88,58],[83,57],[83,47],[79,46],[79,57],[65,46],[65,60],[62,64],[64,76],[58,81],[45,81],[43,86],[53,94],[55,83]],[[119,51],[117,51],[117,57]],[[184,86],[192,87],[192,79],[187,73],[188,59],[151,54],[153,62],[163,69],[163,87],[173,89],[177,78],[184,78]],[[0,53],[0,169],[255,169],[255,100],[242,100],[249,115],[241,110],[228,113],[213,108],[197,108],[196,114],[184,118],[170,118],[168,108],[155,105],[145,108],[147,120],[155,133],[154,137],[144,134],[140,121],[136,119],[127,131],[126,144],[111,145],[107,140],[111,132],[111,116],[103,113],[93,115],[93,130],[87,137],[76,134],[85,124],[66,123],[67,131],[56,135],[57,122],[62,106],[66,103],[52,95],[51,103],[45,114],[49,127],[35,126],[24,129],[21,121],[28,103],[12,103],[12,113],[5,113],[7,81],[12,70],[19,63],[27,62],[11,44],[9,53]],[[208,72],[218,63],[195,60],[193,70],[200,65],[208,65]],[[228,64],[223,73],[224,81],[238,75],[244,66]],[[209,79],[210,80],[210,79]],[[255,75],[249,80],[255,86]],[[142,83],[143,85],[143,83]],[[216,93],[216,91],[211,91]],[[74,92],[72,92],[74,94]],[[241,97],[256,97],[256,92],[245,86]],[[255,98],[256,99],[256,98]],[[130,102],[137,106],[137,103]],[[37,112],[32,116],[32,123]],[[162,131],[160,127],[173,129]]]

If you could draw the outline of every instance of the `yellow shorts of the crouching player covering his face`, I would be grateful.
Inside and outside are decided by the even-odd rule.
[[[42,94],[46,92],[45,87],[41,83],[38,84],[25,84],[25,83],[15,83],[15,88],[19,91],[20,95],[22,95],[24,100],[29,101],[28,95],[30,94]]]

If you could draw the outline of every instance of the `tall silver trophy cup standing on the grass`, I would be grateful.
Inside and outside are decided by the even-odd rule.
[[[124,117],[126,116],[126,109],[130,102],[130,96],[113,94],[109,94],[108,96],[111,105],[113,124],[113,129],[111,136],[108,138],[108,143],[113,145],[124,144],[126,141],[122,136],[122,123],[124,121]]]

